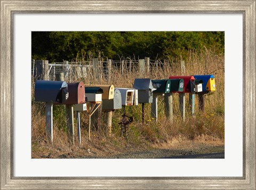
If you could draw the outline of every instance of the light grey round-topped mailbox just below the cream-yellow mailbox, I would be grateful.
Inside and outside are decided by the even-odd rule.
[[[110,100],[102,99],[102,110],[122,109],[122,96],[118,89],[114,89],[114,98]]]

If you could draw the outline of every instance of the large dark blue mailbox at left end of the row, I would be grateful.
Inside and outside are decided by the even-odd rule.
[[[68,85],[65,81],[37,80],[35,84],[36,102],[65,103],[68,99]]]

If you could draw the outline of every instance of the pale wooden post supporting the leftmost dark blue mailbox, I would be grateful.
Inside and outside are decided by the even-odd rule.
[[[53,143],[52,102],[45,102],[45,131],[47,138]]]

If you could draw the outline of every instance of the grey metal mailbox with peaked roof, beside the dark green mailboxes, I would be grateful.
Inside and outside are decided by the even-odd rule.
[[[138,89],[138,102],[139,103],[152,103],[153,87],[151,79],[135,79],[133,88]]]

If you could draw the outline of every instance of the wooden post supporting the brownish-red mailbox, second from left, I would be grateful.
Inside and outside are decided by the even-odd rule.
[[[71,144],[75,144],[75,136],[74,136],[74,106],[66,105],[66,118],[67,118],[67,128],[68,128],[68,136]]]

